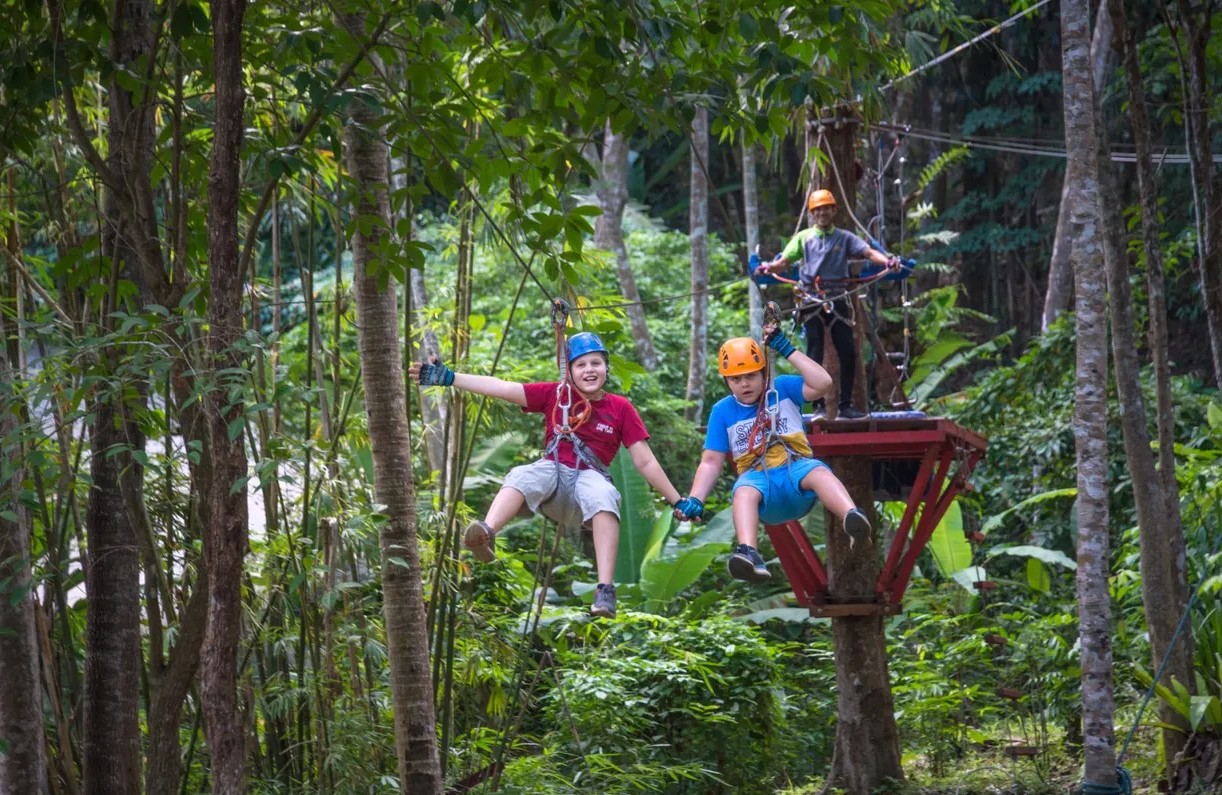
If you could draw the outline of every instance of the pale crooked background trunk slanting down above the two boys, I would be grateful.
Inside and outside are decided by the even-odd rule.
[[[620,294],[628,302],[628,324],[637,358],[645,370],[657,369],[657,352],[645,324],[645,308],[640,305],[637,277],[628,260],[628,248],[623,244],[623,208],[628,201],[628,140],[606,125],[602,136],[602,175],[599,180],[599,201],[602,215],[594,223],[594,244],[615,254],[615,269],[620,277]]]

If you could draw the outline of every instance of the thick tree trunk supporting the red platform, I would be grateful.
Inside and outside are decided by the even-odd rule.
[[[846,110],[837,115],[847,116]],[[836,171],[843,175],[854,172],[853,139],[857,125],[838,123],[824,131],[824,151],[835,159]],[[831,177],[821,181],[835,194],[837,200],[836,222],[848,227],[852,220],[848,208],[855,195],[853,183],[841,184]],[[803,203],[805,204],[805,203]],[[860,302],[855,300],[860,311]],[[862,326],[854,329],[860,350]],[[831,344],[831,335],[825,342]],[[835,354],[825,354],[835,360]],[[843,368],[862,368],[862,357],[857,361],[844,361]],[[853,399],[864,405],[865,379],[859,370],[854,386]],[[833,388],[840,388],[838,386]],[[827,403],[836,404],[835,396]],[[864,459],[838,459],[832,462],[836,475],[848,488],[853,502],[870,517],[876,528],[877,514],[874,510],[874,487],[870,475],[870,463]],[[877,547],[849,550],[848,536],[840,520],[830,513],[824,513],[824,526],[827,529],[829,591],[833,598],[853,598],[873,596],[875,583],[879,581],[880,559]],[[899,757],[899,728],[896,724],[896,711],[891,695],[891,680],[887,670],[887,641],[881,615],[841,617],[832,619],[832,641],[836,648],[836,750],[832,756],[831,772],[827,774],[829,786],[843,788],[849,795],[869,795],[885,779],[904,778]]]

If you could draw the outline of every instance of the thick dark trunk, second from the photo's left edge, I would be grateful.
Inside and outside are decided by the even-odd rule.
[[[114,7],[110,57],[116,65],[137,68],[149,56],[150,15],[145,0]],[[103,199],[101,249],[112,270],[111,291],[100,311],[104,325],[110,311],[119,309],[114,288],[119,277],[130,277],[139,285],[154,281],[149,275],[154,258],[160,258],[155,226],[150,241],[143,225],[149,217],[147,142],[152,136],[152,115],[117,81],[108,88],[109,182]],[[142,297],[147,294],[142,292]],[[143,438],[125,416],[123,394],[131,383],[130,374],[121,372],[117,352],[104,352],[104,366],[111,382],[88,399],[94,420],[89,440],[93,482],[86,504],[88,604],[82,773],[86,795],[125,795],[141,791],[139,688],[133,683],[142,673],[142,656],[139,546],[122,496],[121,473],[139,469],[127,446],[142,448]]]

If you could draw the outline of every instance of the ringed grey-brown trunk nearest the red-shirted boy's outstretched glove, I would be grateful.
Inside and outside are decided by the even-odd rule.
[[[360,29],[360,21],[349,20],[346,27]],[[395,710],[400,791],[440,795],[442,779],[415,536],[412,440],[404,415],[395,291],[379,285],[385,275],[378,274],[375,266],[381,247],[389,242],[387,151],[385,140],[373,132],[381,128],[381,121],[370,105],[354,101],[345,128],[345,150],[354,183],[352,212],[357,217],[374,219],[369,225],[358,227],[352,239],[352,255],[374,491],[378,502],[386,506],[387,517],[380,532],[382,611],[386,617],[386,656]]]

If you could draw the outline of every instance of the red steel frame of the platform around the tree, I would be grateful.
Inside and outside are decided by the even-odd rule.
[[[908,507],[896,529],[871,601],[831,603],[827,569],[798,521],[765,525],[798,604],[814,615],[893,614],[901,611],[916,557],[985,454],[982,436],[942,418],[819,421],[809,434],[815,457],[920,460]],[[923,506],[920,519],[916,508]],[[913,530],[913,523],[916,526]]]

